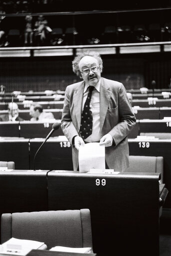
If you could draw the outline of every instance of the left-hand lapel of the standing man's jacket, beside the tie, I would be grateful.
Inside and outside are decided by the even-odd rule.
[[[80,122],[81,122],[83,89],[84,89],[84,81],[82,81],[78,85],[77,89],[75,90],[74,96],[73,96],[74,111],[75,111],[75,117],[76,117],[76,121],[77,121],[77,125],[78,125],[78,130],[80,128]]]

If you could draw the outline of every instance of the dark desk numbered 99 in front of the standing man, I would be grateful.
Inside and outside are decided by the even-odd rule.
[[[97,255],[158,255],[159,174],[48,173],[48,209],[89,208]]]

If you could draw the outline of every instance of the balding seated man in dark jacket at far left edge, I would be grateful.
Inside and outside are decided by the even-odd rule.
[[[8,103],[8,114],[1,115],[0,121],[23,121],[18,111],[18,105],[15,102]]]

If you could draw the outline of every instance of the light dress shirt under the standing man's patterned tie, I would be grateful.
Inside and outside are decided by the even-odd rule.
[[[89,85],[85,84],[84,90],[83,90],[83,98],[82,98],[82,110],[88,95],[88,89],[87,89],[88,87]],[[100,92],[100,80],[94,86],[94,90],[92,91],[92,95],[91,95],[89,106],[90,106],[90,111],[92,112],[92,133],[85,139],[86,142],[97,142],[100,140],[99,92]]]

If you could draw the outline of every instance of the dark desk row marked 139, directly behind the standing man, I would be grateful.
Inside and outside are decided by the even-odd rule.
[[[14,161],[15,169],[33,169],[34,155],[44,139],[0,139],[0,160]],[[163,183],[171,191],[171,139],[128,139],[129,155],[163,156]],[[71,145],[65,136],[49,138],[35,158],[35,169],[72,170]],[[171,208],[168,193],[165,207]]]

